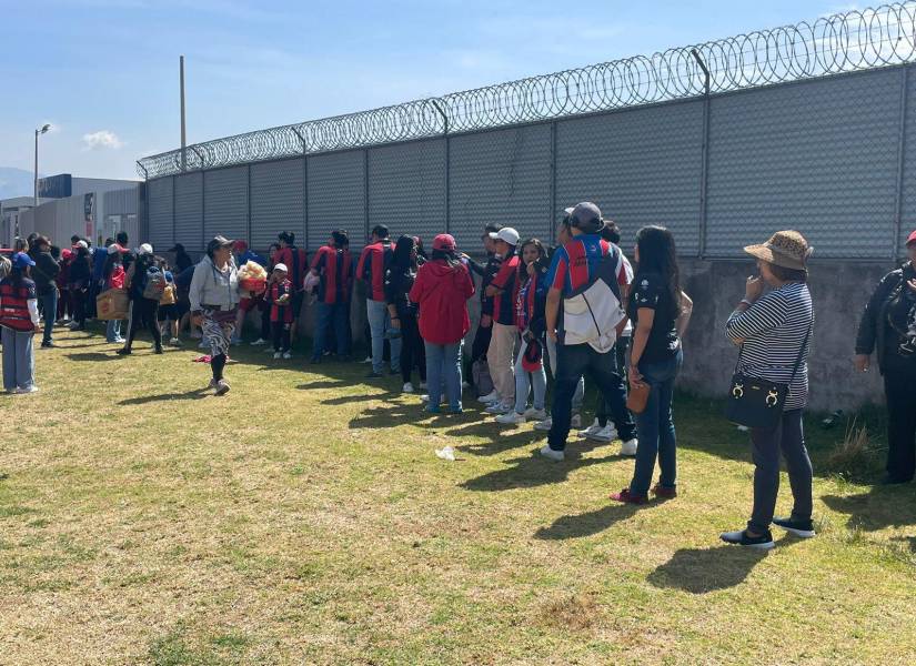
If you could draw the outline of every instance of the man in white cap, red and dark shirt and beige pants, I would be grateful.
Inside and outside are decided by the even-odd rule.
[[[481,398],[489,404],[490,414],[505,414],[515,407],[515,295],[517,292],[519,232],[503,226],[491,233],[496,256],[502,260],[500,270],[486,287],[486,295],[493,299],[493,332],[486,351],[486,363],[493,380],[493,393]]]

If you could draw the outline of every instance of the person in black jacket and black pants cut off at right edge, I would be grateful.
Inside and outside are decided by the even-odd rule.
[[[887,476],[894,485],[916,472],[916,231],[903,266],[885,275],[865,307],[856,336],[855,366],[868,372],[877,350],[887,398]]]

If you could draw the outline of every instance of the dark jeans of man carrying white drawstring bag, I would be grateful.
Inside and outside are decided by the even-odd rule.
[[[570,435],[570,422],[573,417],[573,396],[583,375],[590,373],[598,391],[610,394],[620,381],[616,365],[614,350],[601,354],[588,344],[556,345],[556,381],[551,408],[553,423],[547,435],[551,448],[566,448],[566,437]]]

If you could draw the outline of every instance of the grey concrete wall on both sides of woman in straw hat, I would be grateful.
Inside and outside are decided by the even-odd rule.
[[[882,400],[877,369],[855,374],[852,357],[858,320],[888,263],[813,262],[809,287],[815,325],[809,359],[811,406],[850,410]],[[681,385],[701,395],[725,394],[737,349],[725,337],[725,321],[744,296],[754,272],[751,261],[681,260],[684,291],[694,300],[691,327],[684,340]]]

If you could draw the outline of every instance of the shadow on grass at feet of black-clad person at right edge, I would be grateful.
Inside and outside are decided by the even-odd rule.
[[[848,516],[847,527],[874,532],[884,527],[916,526],[914,484],[872,486],[857,495],[826,495],[821,500]],[[916,537],[914,537],[916,538]]]

